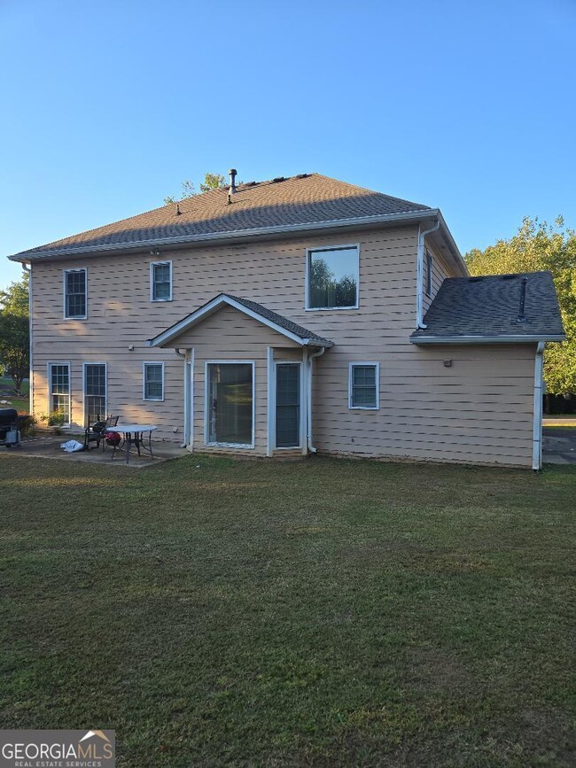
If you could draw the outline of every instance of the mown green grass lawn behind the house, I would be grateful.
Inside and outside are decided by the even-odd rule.
[[[576,467],[0,453],[4,728],[117,765],[573,765]]]

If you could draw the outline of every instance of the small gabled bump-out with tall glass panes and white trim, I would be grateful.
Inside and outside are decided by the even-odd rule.
[[[183,358],[184,443],[190,451],[315,451],[315,360],[332,346],[282,315],[220,294],[151,346]]]

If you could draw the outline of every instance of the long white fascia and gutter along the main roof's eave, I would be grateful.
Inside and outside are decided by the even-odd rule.
[[[26,253],[19,255],[18,253],[9,256],[8,259],[12,261],[21,261],[29,263],[30,261],[56,260],[73,258],[77,255],[83,256],[97,256],[99,253],[115,252],[115,251],[140,251],[147,248],[159,247],[162,245],[186,245],[194,243],[205,243],[211,241],[218,241],[222,244],[233,243],[237,240],[244,240],[250,237],[263,237],[266,235],[288,235],[291,232],[307,232],[307,231],[322,231],[323,229],[339,229],[343,227],[370,227],[378,224],[386,223],[401,223],[402,221],[422,221],[426,219],[433,219],[440,216],[440,222],[442,228],[448,232],[446,223],[441,217],[438,208],[427,208],[424,211],[408,211],[406,213],[385,213],[378,216],[358,216],[352,219],[333,219],[331,221],[311,221],[306,224],[282,224],[276,227],[258,227],[255,229],[237,229],[233,232],[210,232],[202,235],[175,235],[173,237],[155,237],[150,240],[138,240],[130,243],[110,243],[100,245],[83,244],[74,248],[65,248],[61,250],[51,251],[38,251],[35,253]],[[448,232],[449,235],[449,232]],[[449,240],[454,243],[452,236],[449,235]],[[456,248],[460,260],[463,259],[460,252]]]

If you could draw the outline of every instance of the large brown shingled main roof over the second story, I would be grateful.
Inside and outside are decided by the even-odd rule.
[[[178,213],[179,211],[179,213]],[[225,235],[286,228],[314,228],[326,222],[370,217],[402,217],[435,213],[428,206],[392,198],[381,192],[339,182],[320,174],[300,174],[268,182],[210,190],[129,219],[90,229],[73,237],[15,253],[10,258],[32,261],[77,253],[191,243]]]

